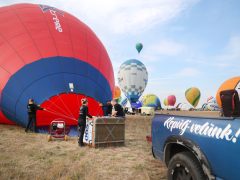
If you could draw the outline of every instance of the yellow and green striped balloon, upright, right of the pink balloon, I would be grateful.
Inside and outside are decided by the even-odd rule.
[[[196,87],[189,88],[185,91],[185,97],[193,107],[196,107],[201,97],[200,90]]]

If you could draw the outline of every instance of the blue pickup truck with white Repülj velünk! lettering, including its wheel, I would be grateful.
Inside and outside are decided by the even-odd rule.
[[[156,113],[152,152],[167,165],[168,179],[239,180],[240,118]]]

